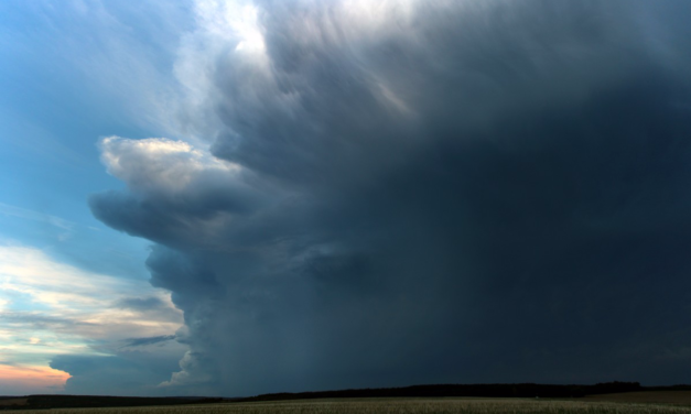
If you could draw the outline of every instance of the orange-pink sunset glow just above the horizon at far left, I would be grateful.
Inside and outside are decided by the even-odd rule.
[[[69,373],[42,366],[0,364],[0,389],[22,389],[26,393],[63,391]]]

